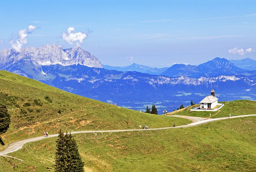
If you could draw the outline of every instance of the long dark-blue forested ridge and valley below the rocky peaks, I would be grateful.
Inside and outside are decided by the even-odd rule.
[[[131,109],[155,103],[159,110],[172,111],[190,101],[199,102],[214,88],[220,100],[256,99],[256,81],[246,76],[167,77],[140,72],[120,72],[81,65],[43,66],[48,81],[41,81],[81,96]],[[148,102],[148,103],[147,103]],[[151,103],[150,103],[151,102]]]

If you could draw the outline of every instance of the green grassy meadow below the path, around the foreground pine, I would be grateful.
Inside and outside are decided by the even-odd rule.
[[[88,171],[255,171],[256,118],[190,128],[73,135]],[[56,137],[1,157],[4,170],[54,171]],[[0,171],[3,171],[0,170]]]

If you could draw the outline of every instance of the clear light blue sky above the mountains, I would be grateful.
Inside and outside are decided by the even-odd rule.
[[[79,43],[105,65],[198,65],[215,57],[256,60],[256,0],[9,0],[1,2],[0,22],[0,49],[11,48],[19,30],[27,33],[31,24],[37,29],[27,33],[22,48]],[[86,38],[64,40],[70,27]]]

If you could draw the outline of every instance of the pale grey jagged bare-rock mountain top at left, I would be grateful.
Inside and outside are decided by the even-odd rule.
[[[39,65],[56,65],[62,66],[83,65],[88,67],[102,68],[102,65],[95,56],[80,47],[75,46],[63,50],[60,45],[51,44],[43,45],[41,47],[26,47],[20,53],[15,53],[11,49],[1,50],[1,63],[15,63],[21,59],[31,59]]]

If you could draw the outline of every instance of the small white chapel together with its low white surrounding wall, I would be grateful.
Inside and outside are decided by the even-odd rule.
[[[215,97],[215,91],[211,90],[211,95],[206,96],[201,100],[200,106],[191,108],[190,111],[217,111],[221,109],[224,104],[218,103],[218,98]]]

